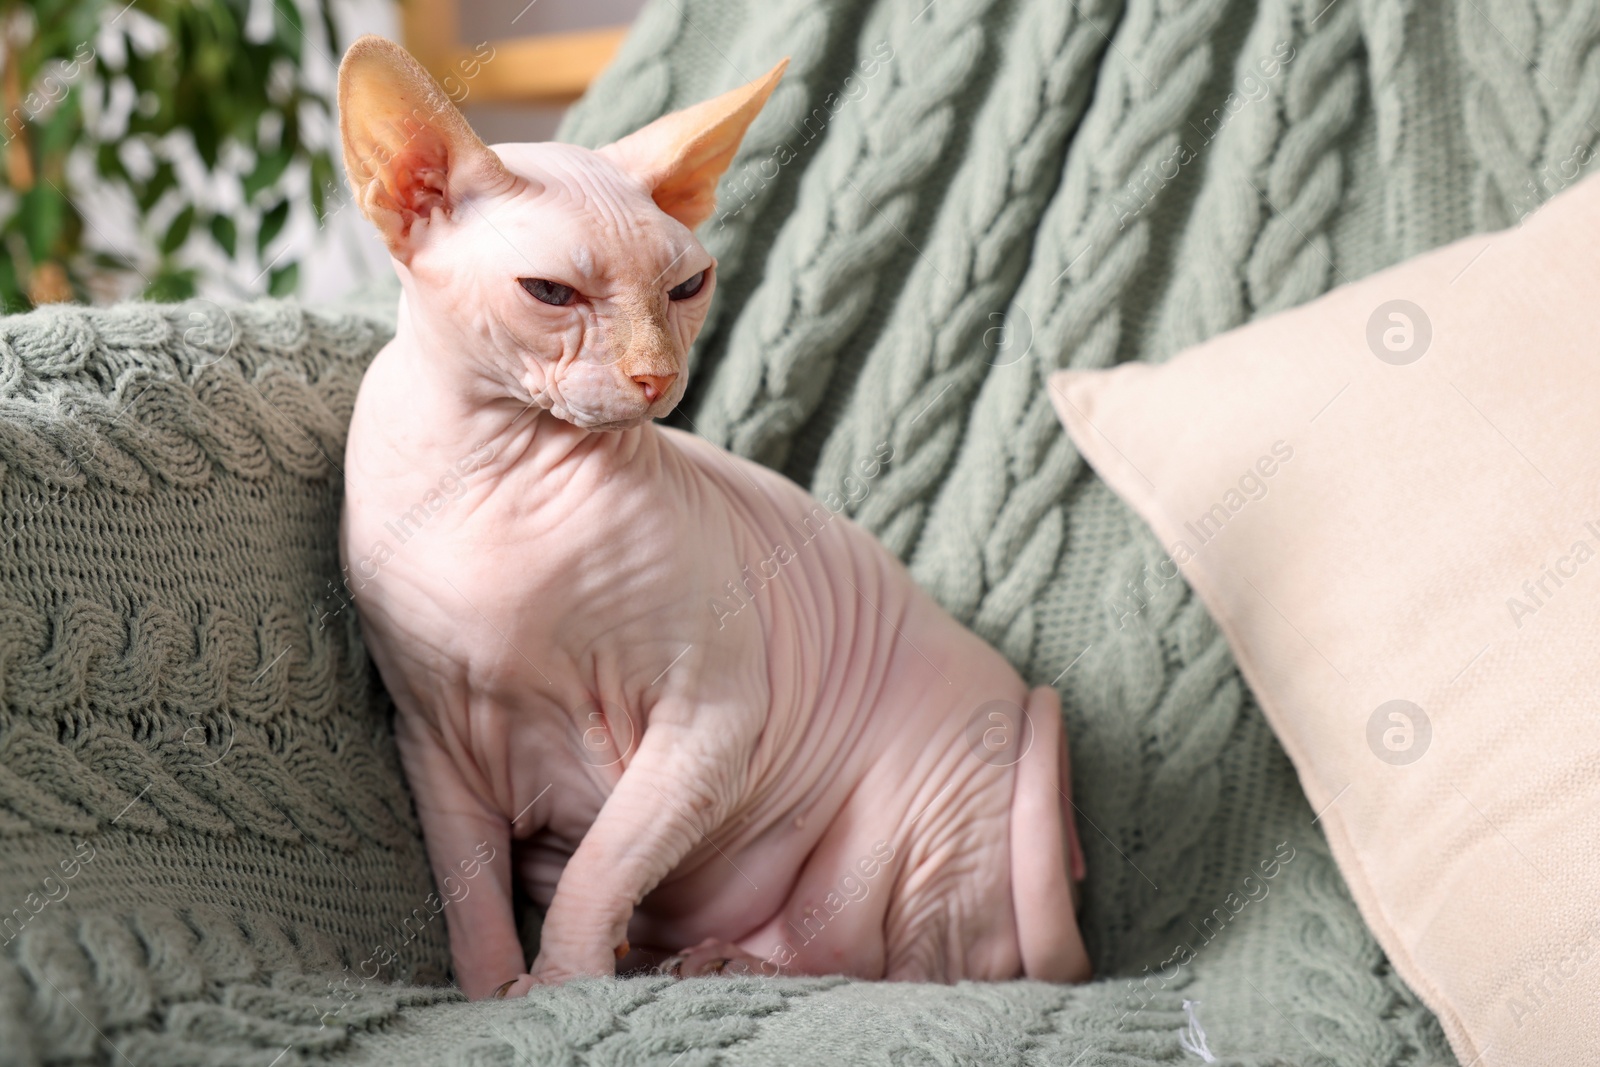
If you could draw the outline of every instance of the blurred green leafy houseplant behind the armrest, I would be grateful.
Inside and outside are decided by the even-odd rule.
[[[293,291],[298,264],[266,251],[290,219],[291,189],[320,222],[333,187],[331,139],[306,136],[331,128],[328,94],[306,78],[307,61],[338,54],[330,8],[0,0],[5,309],[118,286],[190,296],[197,270],[179,250],[194,242],[227,261],[259,259],[269,291]],[[133,248],[109,246],[80,211],[85,194],[120,205],[118,218],[133,213]]]

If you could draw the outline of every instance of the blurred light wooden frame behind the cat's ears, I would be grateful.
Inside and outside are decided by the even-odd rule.
[[[458,3],[459,0],[402,0],[400,5],[405,46],[456,102],[570,104],[611,62],[627,34],[626,26],[610,26],[507,37],[486,42],[486,46],[467,46],[461,42]],[[485,54],[493,59],[485,59]],[[459,98],[456,85],[464,90]]]

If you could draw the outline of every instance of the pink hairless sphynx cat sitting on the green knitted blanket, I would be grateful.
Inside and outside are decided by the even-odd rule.
[[[381,38],[339,70],[402,283],[341,552],[469,997],[664,957],[1088,977],[1056,693],[837,507],[653,421],[717,288],[694,227],[782,66],[598,150],[486,147]]]

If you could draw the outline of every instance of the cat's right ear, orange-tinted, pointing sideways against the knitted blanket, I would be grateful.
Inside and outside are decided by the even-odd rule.
[[[656,206],[693,230],[717,210],[717,179],[787,66],[782,59],[749,85],[662,115],[600,154],[642,178]]]

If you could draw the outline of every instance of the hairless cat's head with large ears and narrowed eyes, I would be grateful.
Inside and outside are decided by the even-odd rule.
[[[344,165],[395,259],[400,330],[480,400],[589,430],[672,411],[717,288],[693,230],[784,66],[603,149],[488,147],[403,48],[355,42]]]

